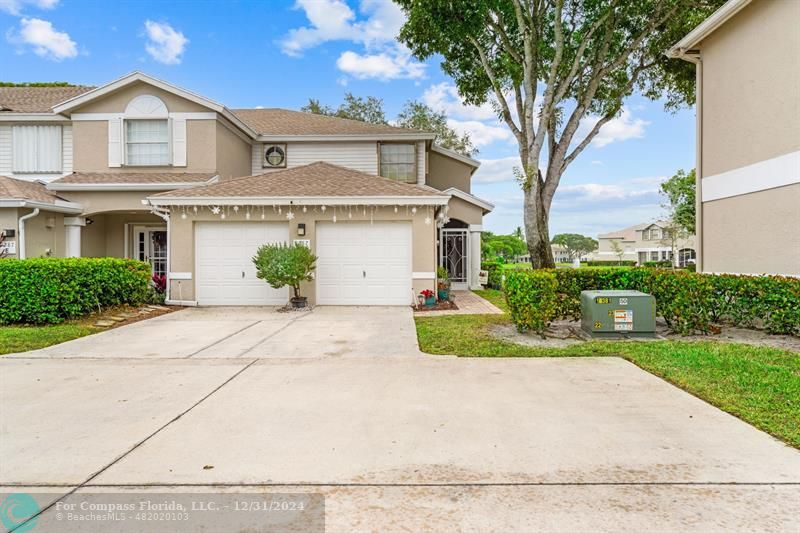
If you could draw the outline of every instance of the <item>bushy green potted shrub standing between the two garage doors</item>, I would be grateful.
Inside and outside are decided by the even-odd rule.
[[[292,288],[291,302],[296,309],[308,305],[308,299],[300,296],[300,283],[314,279],[316,261],[317,256],[302,244],[265,244],[253,257],[258,278],[273,289],[287,285]]]

